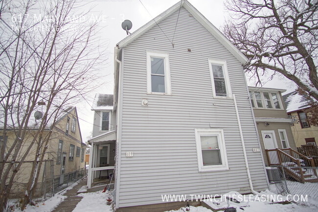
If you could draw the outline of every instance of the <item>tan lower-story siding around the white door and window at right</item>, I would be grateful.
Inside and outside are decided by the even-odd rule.
[[[286,130],[289,146],[291,148],[293,148],[294,150],[296,150],[296,145],[295,145],[292,129],[291,129],[291,126],[289,125],[289,123],[286,123],[286,122],[270,122],[270,125],[268,125],[268,126],[265,126],[264,122],[256,122],[256,123],[257,123],[258,134],[259,134],[259,137],[260,137],[259,138],[260,139],[260,143],[261,143],[262,150],[263,150],[264,161],[265,161],[266,165],[268,165],[268,160],[267,160],[267,156],[266,156],[266,153],[265,153],[265,146],[264,146],[262,131],[273,130],[275,132],[275,138],[276,138],[276,141],[277,141],[277,146],[278,146],[279,149],[281,149],[283,147],[282,147],[281,141],[279,139],[278,129]]]

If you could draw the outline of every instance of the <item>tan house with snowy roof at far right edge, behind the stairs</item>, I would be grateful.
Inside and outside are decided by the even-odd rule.
[[[311,126],[307,121],[306,113],[303,111],[309,108],[309,100],[297,92],[283,95],[286,105],[287,114],[294,121],[292,123],[292,131],[297,147],[302,145],[318,144],[318,127]]]

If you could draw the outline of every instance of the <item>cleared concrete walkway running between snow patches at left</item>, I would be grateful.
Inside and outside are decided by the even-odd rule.
[[[63,196],[67,196],[52,212],[72,212],[76,205],[81,201],[83,197],[76,196],[77,191],[82,186],[87,185],[87,177],[84,178],[79,184],[69,189]]]

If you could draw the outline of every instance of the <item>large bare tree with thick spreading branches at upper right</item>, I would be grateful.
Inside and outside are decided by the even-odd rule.
[[[256,86],[270,70],[318,100],[318,1],[227,0],[226,7],[232,19],[223,31],[250,59],[245,70]]]

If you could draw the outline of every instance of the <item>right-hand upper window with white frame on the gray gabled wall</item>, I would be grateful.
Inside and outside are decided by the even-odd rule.
[[[214,97],[231,97],[227,73],[227,63],[222,60],[209,59],[212,92]]]

